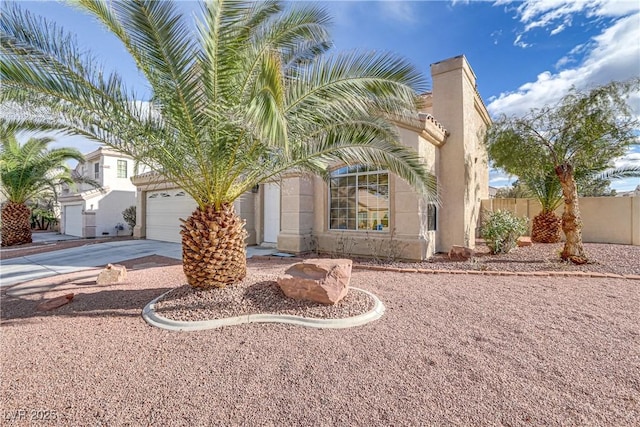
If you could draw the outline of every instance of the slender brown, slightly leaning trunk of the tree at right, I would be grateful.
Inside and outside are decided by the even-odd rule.
[[[560,180],[560,185],[562,185],[562,196],[564,198],[562,231],[567,238],[560,257],[574,264],[585,264],[588,259],[582,244],[582,219],[580,218],[578,188],[573,177],[573,167],[568,164],[559,165],[556,167],[556,174]]]

